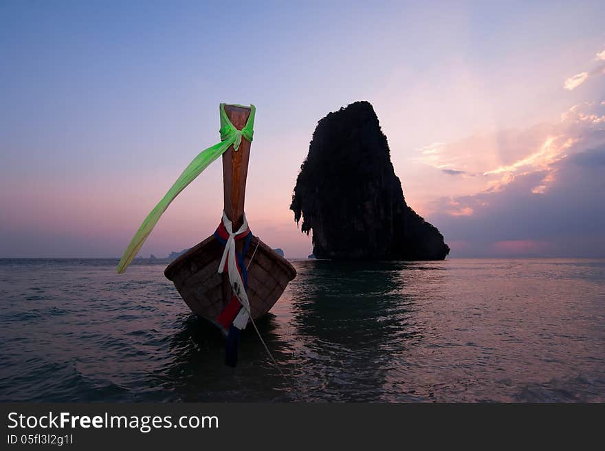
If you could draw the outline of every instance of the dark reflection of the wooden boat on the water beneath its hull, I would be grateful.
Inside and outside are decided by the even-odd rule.
[[[179,401],[288,400],[285,381],[275,374],[252,329],[245,331],[236,369],[224,365],[221,333],[195,315],[188,315],[170,340],[165,364],[148,377],[148,384]],[[279,335],[273,314],[256,325],[279,361],[287,360],[289,343]]]

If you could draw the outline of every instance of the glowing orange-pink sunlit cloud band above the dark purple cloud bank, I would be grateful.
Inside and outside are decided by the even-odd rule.
[[[449,194],[437,199],[429,193],[430,197],[423,199],[425,214],[476,214],[483,195],[505,190],[518,177],[535,181],[524,188],[527,192],[544,195],[560,177],[560,162],[582,149],[603,144],[604,107],[605,101],[584,102],[550,124],[478,133],[459,142],[417,149],[420,155],[416,161],[438,169],[432,177],[440,177],[439,184]]]

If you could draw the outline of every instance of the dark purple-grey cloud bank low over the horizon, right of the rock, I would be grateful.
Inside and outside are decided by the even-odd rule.
[[[577,155],[583,155],[579,153]],[[442,199],[430,217],[463,256],[605,256],[605,145],[558,162],[558,177],[534,195],[543,173],[515,177],[498,192]],[[453,205],[457,210],[452,210]],[[465,209],[472,214],[458,214]]]

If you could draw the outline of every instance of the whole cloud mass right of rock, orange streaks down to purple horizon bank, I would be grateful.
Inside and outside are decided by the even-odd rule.
[[[448,159],[456,157],[452,149],[483,153],[476,177],[443,175],[444,183],[465,182],[474,190],[434,199],[426,214],[445,241],[456,244],[452,257],[604,257],[603,118],[602,102],[585,102],[551,124],[484,133],[462,140],[462,147],[444,143],[440,155]],[[493,146],[475,147],[488,142]]]

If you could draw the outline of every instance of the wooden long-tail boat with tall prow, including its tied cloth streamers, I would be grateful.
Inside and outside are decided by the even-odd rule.
[[[219,228],[170,263],[164,274],[197,316],[221,329],[227,338],[225,362],[234,366],[241,329],[270,311],[296,270],[252,234],[245,218],[254,105],[221,104],[219,111],[221,143],[200,153],[149,214],[124,252],[118,273],[132,261],[170,201],[222,155],[224,209]]]

